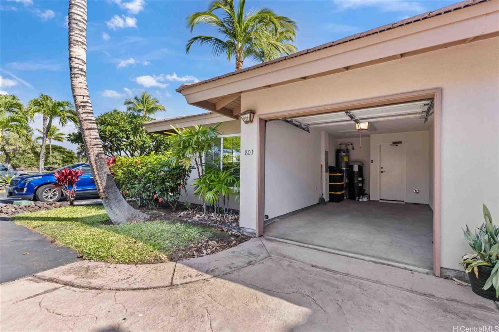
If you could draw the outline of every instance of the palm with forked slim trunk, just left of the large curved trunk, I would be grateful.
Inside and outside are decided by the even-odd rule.
[[[62,100],[53,100],[52,97],[40,94],[38,98],[33,98],[28,103],[28,116],[32,121],[36,114],[43,116],[43,134],[41,139],[40,161],[38,171],[43,171],[43,162],[45,160],[45,145],[47,136],[54,119],[59,119],[59,125],[65,126],[68,122],[78,123],[76,112],[73,110],[71,102]]]

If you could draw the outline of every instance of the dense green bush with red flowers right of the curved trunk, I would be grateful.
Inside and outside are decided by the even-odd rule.
[[[118,157],[108,164],[125,198],[135,199],[139,206],[168,203],[174,210],[191,173],[190,168],[172,166],[168,157],[155,154]]]

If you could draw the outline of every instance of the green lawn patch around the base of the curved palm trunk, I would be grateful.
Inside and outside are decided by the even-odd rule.
[[[74,248],[84,258],[109,263],[166,262],[177,248],[216,232],[215,228],[164,220],[106,225],[109,218],[101,205],[66,206],[11,219]]]

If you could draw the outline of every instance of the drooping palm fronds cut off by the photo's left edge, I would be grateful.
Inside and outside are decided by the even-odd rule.
[[[24,105],[13,95],[0,95],[0,142],[6,133],[14,133],[26,143],[31,142],[33,135],[24,113]]]

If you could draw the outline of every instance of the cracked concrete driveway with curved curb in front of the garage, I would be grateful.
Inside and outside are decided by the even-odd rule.
[[[499,325],[454,281],[265,238],[178,263],[77,262],[0,285],[1,331],[452,331]]]

